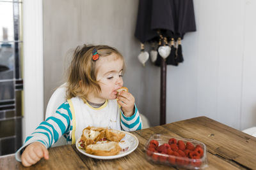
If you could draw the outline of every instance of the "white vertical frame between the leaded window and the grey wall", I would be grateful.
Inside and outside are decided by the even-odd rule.
[[[23,140],[44,120],[42,0],[23,1]]]

